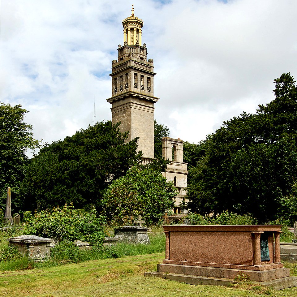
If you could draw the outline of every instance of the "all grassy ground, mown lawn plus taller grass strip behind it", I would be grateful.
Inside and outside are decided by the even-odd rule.
[[[161,229],[150,235],[151,244],[118,244],[76,258],[35,263],[23,259],[0,265],[0,296],[99,297],[99,296],[275,296],[297,297],[297,287],[274,291],[248,282],[229,287],[192,286],[162,278],[144,277],[156,270],[165,256]],[[4,244],[0,241],[0,244]],[[91,256],[93,255],[93,256]],[[61,256],[61,255],[60,255]],[[96,259],[97,258],[97,259]],[[73,261],[80,263],[72,263]],[[4,265],[5,264],[5,265]],[[284,263],[297,276],[297,264]]]

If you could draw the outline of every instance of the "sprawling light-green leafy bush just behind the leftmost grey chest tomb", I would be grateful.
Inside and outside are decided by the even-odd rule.
[[[31,220],[30,220],[31,219]],[[24,215],[23,232],[42,237],[54,237],[59,240],[89,241],[92,245],[101,245],[104,239],[103,225],[105,217],[98,215],[95,208],[90,212],[75,210],[73,204],[65,204],[62,209],[57,206],[52,212],[47,210],[30,217]]]

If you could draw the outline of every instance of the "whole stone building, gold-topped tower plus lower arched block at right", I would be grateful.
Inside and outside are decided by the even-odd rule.
[[[143,21],[132,14],[123,20],[123,46],[118,45],[118,59],[112,61],[112,122],[121,122],[120,131],[129,131],[127,141],[136,137],[138,150],[143,152],[143,163],[154,158],[154,63],[147,59],[147,47],[142,44]],[[175,197],[174,213],[180,212],[187,187],[187,164],[183,162],[183,141],[164,137],[162,154],[171,162],[163,172],[167,180],[173,181],[178,195]]]

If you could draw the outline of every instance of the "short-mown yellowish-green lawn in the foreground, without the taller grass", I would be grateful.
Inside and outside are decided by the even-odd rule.
[[[0,271],[0,296],[99,297],[99,296],[296,296],[297,287],[273,291],[242,284],[231,287],[192,286],[161,278],[144,277],[156,270],[164,253],[92,260],[43,269]],[[297,265],[290,265],[296,275]]]

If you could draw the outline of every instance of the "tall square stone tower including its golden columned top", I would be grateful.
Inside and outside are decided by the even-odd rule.
[[[121,122],[120,131],[129,131],[127,141],[139,137],[138,150],[144,158],[154,158],[153,59],[147,60],[141,43],[143,21],[132,14],[123,20],[124,45],[118,45],[118,60],[112,61],[112,122]]]

